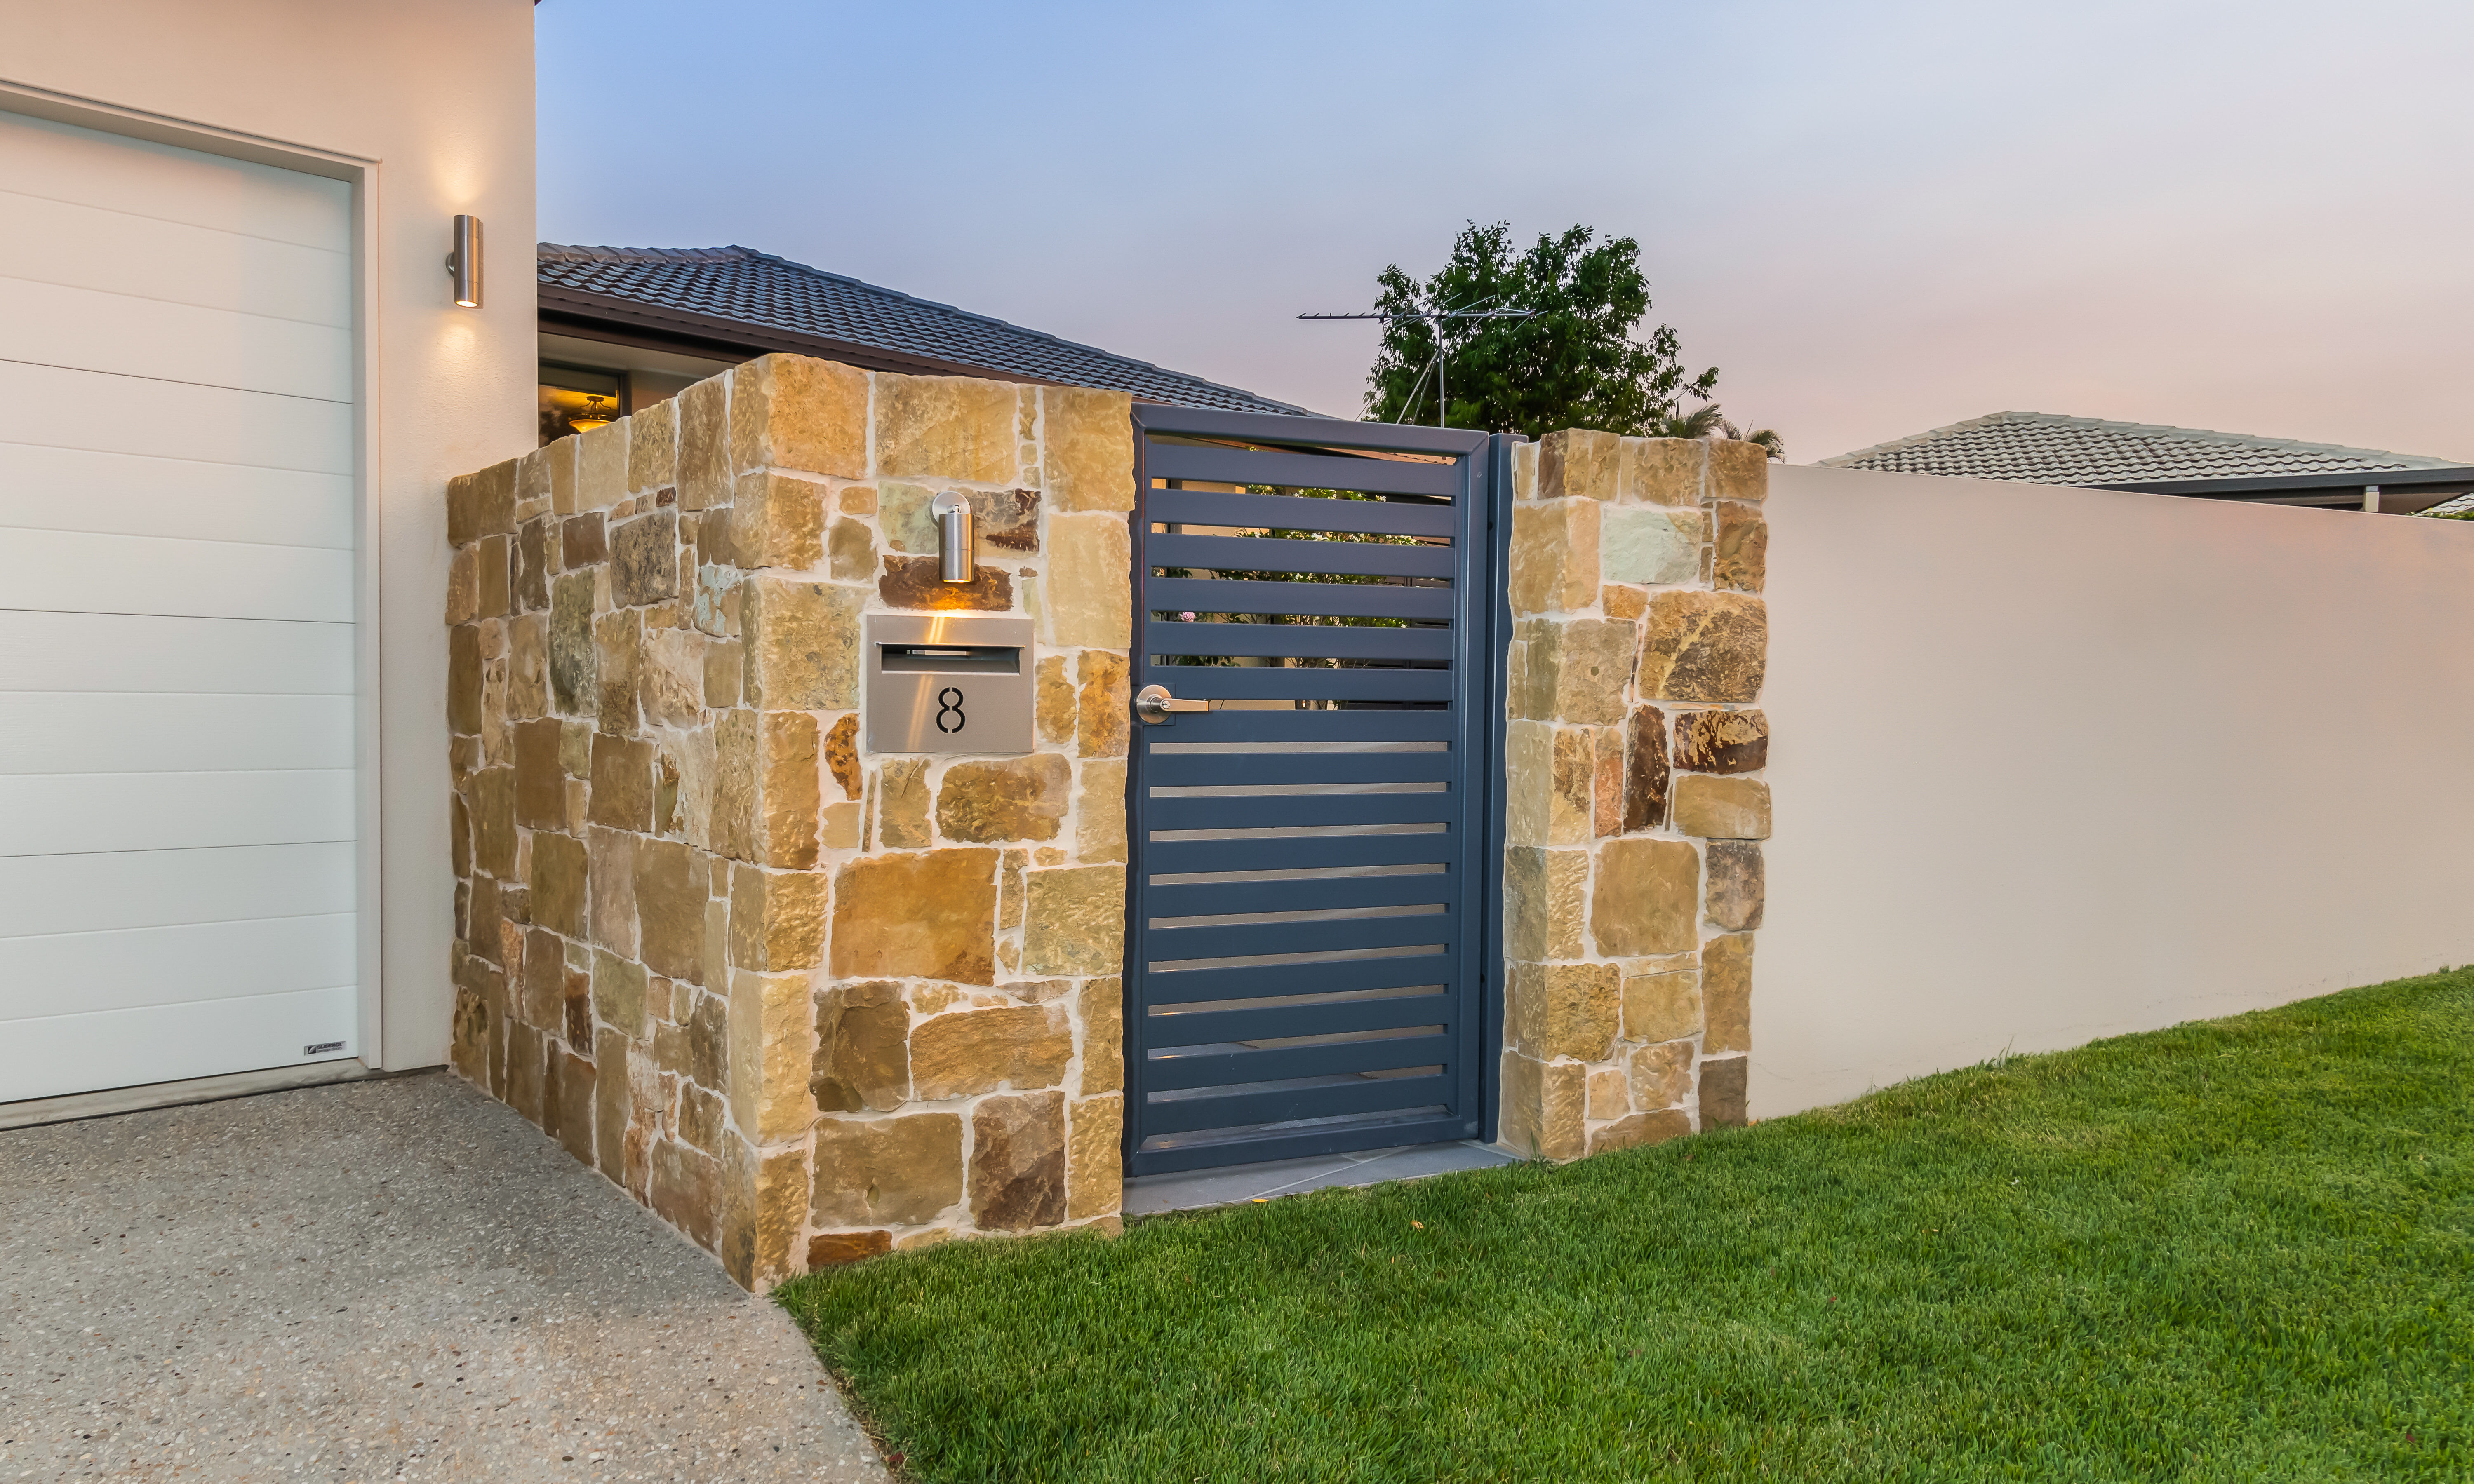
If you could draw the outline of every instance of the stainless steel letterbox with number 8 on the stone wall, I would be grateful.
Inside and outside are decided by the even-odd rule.
[[[1032,621],[868,616],[868,752],[1029,752]]]

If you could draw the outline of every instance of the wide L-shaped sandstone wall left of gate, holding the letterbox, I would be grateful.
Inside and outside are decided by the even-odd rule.
[[[458,1071],[750,1286],[1113,1222],[1131,510],[1123,393],[802,356],[455,480]],[[950,608],[1039,752],[861,749],[863,613]]]

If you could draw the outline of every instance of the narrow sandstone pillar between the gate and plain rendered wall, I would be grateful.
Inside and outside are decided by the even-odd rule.
[[[1514,458],[1502,1143],[1744,1120],[1769,836],[1766,453],[1549,433]]]

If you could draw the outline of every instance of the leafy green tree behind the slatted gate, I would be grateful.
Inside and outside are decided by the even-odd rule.
[[[1675,401],[1707,401],[1717,366],[1687,376],[1675,329],[1635,331],[1650,312],[1640,242],[1591,228],[1541,232],[1517,252],[1512,225],[1470,223],[1450,260],[1418,282],[1400,265],[1376,282],[1383,314],[1437,309],[1534,309],[1531,319],[1393,319],[1366,373],[1366,418],[1435,423],[1437,381],[1450,393],[1447,423],[1539,438],[1556,428],[1643,435]],[[1445,361],[1435,364],[1437,341]]]

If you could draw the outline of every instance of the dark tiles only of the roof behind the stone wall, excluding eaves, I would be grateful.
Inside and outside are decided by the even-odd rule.
[[[814,334],[999,376],[1106,386],[1188,408],[1306,411],[1183,371],[1163,371],[1148,361],[1111,356],[987,314],[970,314],[952,304],[878,289],[755,247],[569,247],[542,242],[539,275],[544,287]]]

